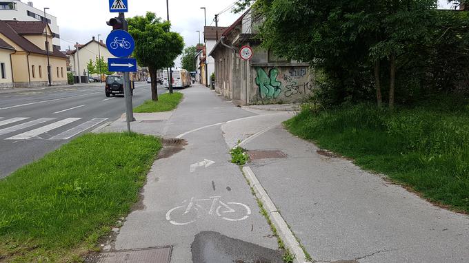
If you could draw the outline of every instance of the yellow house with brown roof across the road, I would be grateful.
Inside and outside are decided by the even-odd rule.
[[[67,56],[52,45],[53,38],[46,23],[0,20],[0,39],[12,48],[10,63],[14,87],[48,85],[48,65],[52,85],[67,84]]]

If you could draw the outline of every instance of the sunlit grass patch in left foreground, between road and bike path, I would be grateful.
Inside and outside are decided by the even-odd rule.
[[[137,202],[161,142],[86,134],[0,180],[0,262],[81,262]]]

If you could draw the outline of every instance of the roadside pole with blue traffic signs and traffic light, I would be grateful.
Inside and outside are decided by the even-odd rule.
[[[130,133],[130,122],[135,119],[132,107],[132,92],[130,92],[129,72],[137,72],[137,60],[128,58],[135,48],[134,39],[127,32],[128,25],[124,14],[124,12],[128,12],[128,1],[109,0],[109,12],[119,12],[119,17],[114,20],[111,19],[110,22],[112,23],[108,23],[108,25],[112,25],[113,28],[117,28],[114,28],[108,35],[106,46],[109,52],[119,59],[108,59],[108,67],[111,72],[123,73],[123,94],[126,98],[127,130]],[[122,30],[117,30],[119,25],[121,25]]]

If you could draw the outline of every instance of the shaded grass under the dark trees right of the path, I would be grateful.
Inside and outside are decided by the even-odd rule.
[[[432,202],[469,213],[469,106],[453,104],[393,112],[367,104],[319,113],[305,108],[285,124]]]

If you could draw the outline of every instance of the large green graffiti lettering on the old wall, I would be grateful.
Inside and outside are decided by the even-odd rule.
[[[277,98],[281,93],[281,82],[277,81],[279,70],[272,68],[267,75],[261,67],[257,67],[256,84],[259,86],[261,98]]]

